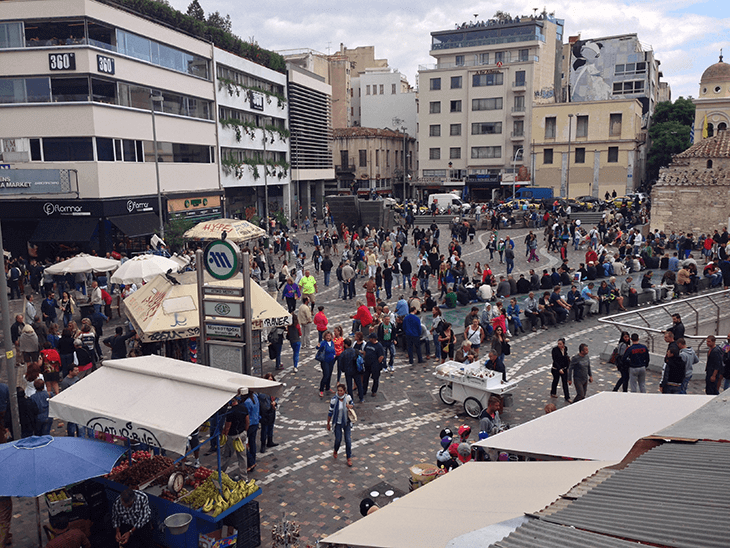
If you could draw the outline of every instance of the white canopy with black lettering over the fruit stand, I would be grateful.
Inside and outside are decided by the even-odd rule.
[[[185,454],[188,436],[237,393],[281,383],[161,356],[104,362],[49,400],[52,417]]]

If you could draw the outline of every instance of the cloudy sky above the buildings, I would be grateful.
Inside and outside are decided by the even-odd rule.
[[[415,84],[418,65],[430,64],[430,33],[454,28],[457,22],[489,19],[496,10],[529,15],[543,7],[565,20],[570,35],[598,38],[636,33],[661,61],[672,99],[697,96],[702,72],[716,63],[720,48],[730,62],[730,5],[709,0],[563,0],[552,4],[503,2],[463,3],[433,0],[199,0],[206,13],[230,14],[234,32],[267,49],[310,48],[333,53],[346,47],[375,46]],[[190,0],[171,0],[186,11]]]

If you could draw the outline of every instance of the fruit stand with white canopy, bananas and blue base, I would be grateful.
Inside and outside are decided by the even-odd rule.
[[[147,493],[157,543],[197,547],[200,535],[225,531],[222,526],[227,525],[237,531],[237,546],[258,546],[254,499],[261,489],[253,482],[234,482],[222,473],[220,445],[218,471],[195,470],[184,459],[196,449],[188,448],[191,433],[237,394],[254,391],[278,396],[280,390],[280,383],[266,379],[143,356],[104,362],[104,367],[52,398],[50,414],[108,441],[122,438],[135,446],[168,452],[135,451],[109,476],[95,480],[109,503],[130,486]],[[212,434],[215,437],[218,432]],[[176,514],[189,516],[188,523],[182,527],[171,523],[168,518]]]

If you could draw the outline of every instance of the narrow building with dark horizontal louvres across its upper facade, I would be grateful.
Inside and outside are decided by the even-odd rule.
[[[292,200],[302,215],[316,205],[321,215],[325,187],[337,191],[332,161],[332,88],[298,64],[287,63]]]

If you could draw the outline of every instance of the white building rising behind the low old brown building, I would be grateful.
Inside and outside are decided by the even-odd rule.
[[[370,68],[351,79],[352,125],[390,128],[416,135],[416,91],[405,75],[389,68]]]

